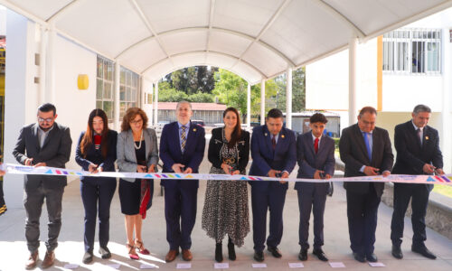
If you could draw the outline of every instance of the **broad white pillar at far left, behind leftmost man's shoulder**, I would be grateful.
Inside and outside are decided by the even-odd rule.
[[[5,70],[5,141],[4,162],[17,162],[13,156],[19,131],[26,124],[36,122],[36,105],[40,99],[33,77],[36,76],[35,25],[27,18],[6,10],[8,51]],[[10,209],[24,208],[24,176],[6,174],[4,177],[6,205]],[[6,214],[7,216],[8,214]]]

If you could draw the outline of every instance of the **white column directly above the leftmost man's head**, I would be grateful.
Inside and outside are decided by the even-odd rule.
[[[49,29],[47,31],[48,43],[47,43],[47,61],[46,61],[46,69],[45,69],[45,102],[55,102],[55,42],[56,42],[56,32],[55,26],[52,24],[49,25]],[[58,105],[55,105],[58,107]]]

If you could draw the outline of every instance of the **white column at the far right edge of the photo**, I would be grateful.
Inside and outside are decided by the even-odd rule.
[[[452,42],[450,42],[448,28],[443,29],[442,42],[442,131],[439,143],[441,145],[440,147],[444,158],[444,171],[446,173],[450,173],[452,170],[452,131],[450,129],[450,126],[452,125],[452,116],[450,114],[450,91],[452,91]]]

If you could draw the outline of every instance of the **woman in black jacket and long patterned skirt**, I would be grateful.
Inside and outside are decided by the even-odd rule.
[[[223,112],[224,127],[212,130],[209,161],[213,174],[246,174],[250,157],[250,133],[240,127],[234,107]],[[221,262],[221,242],[228,235],[228,253],[235,260],[234,245],[241,247],[250,231],[247,182],[208,181],[202,210],[202,229],[216,241],[215,260]]]

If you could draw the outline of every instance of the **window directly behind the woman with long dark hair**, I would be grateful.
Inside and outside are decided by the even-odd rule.
[[[100,108],[105,111],[108,117],[108,123],[112,123],[114,117],[114,74],[114,62],[98,55],[96,108]]]

